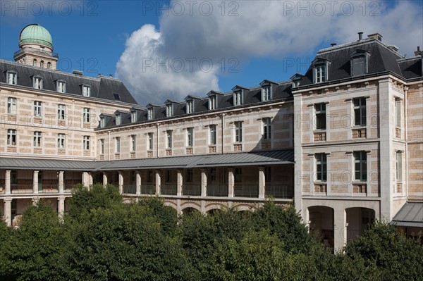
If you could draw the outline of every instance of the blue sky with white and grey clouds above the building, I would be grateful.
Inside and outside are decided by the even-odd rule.
[[[423,46],[422,1],[2,0],[2,59],[30,23],[51,33],[59,69],[115,75],[143,105],[289,80],[360,31],[407,56]]]

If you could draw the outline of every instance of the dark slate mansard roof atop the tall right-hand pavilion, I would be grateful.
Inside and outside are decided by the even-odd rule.
[[[367,73],[361,75],[361,77],[382,73],[393,73],[405,80],[422,77],[422,54],[405,58],[398,54],[392,46],[387,46],[378,39],[367,38],[318,51],[314,61],[326,60],[328,62],[327,80],[319,84],[324,85],[337,80],[352,79],[351,57],[357,51],[368,55]],[[302,77],[300,87],[315,85],[313,83],[313,68],[312,63]]]

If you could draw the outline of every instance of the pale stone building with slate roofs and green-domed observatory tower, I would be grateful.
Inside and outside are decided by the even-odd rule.
[[[49,32],[28,25],[0,61],[0,211],[17,224],[76,183],[125,199],[164,196],[178,213],[294,203],[341,247],[375,218],[423,227],[422,52],[369,35],[317,53],[287,82],[138,105],[113,77],[56,70]],[[410,218],[411,217],[411,218]]]

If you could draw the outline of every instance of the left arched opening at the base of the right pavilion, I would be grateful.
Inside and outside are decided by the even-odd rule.
[[[325,246],[333,248],[333,208],[312,206],[309,211],[309,230],[316,235]]]

